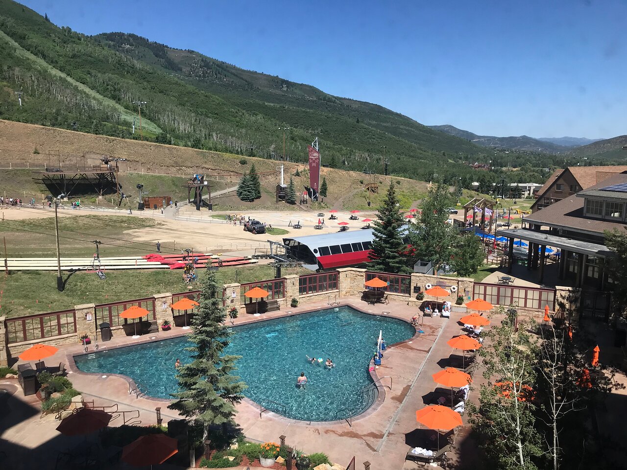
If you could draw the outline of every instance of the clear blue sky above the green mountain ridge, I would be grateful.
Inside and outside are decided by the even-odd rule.
[[[627,0],[23,3],[85,34],[139,34],[427,125],[627,133]]]

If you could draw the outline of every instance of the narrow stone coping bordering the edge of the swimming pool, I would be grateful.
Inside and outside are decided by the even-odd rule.
[[[252,325],[253,323],[260,323],[263,321],[268,321],[268,320],[280,320],[281,318],[289,318],[290,316],[296,316],[296,315],[302,315],[303,313],[312,313],[314,311],[321,311],[321,310],[331,310],[334,308],[339,308],[342,306],[348,306],[354,310],[359,311],[359,313],[364,313],[366,315],[372,315],[372,316],[383,316],[383,317],[389,317],[389,318],[394,318],[396,320],[401,320],[404,321],[405,323],[408,323],[409,325],[411,325],[411,323],[406,320],[405,318],[402,318],[401,316],[398,315],[394,315],[393,312],[389,312],[386,313],[385,315],[382,315],[382,313],[376,313],[376,312],[372,312],[372,311],[365,311],[362,310],[362,308],[360,308],[359,306],[354,305],[353,303],[351,303],[350,301],[347,302],[340,302],[337,305],[333,306],[330,305],[329,308],[310,308],[310,309],[305,309],[305,310],[299,310],[299,311],[291,311],[288,310],[285,312],[285,315],[280,315],[280,316],[272,316],[272,317],[255,317],[255,318],[251,318],[250,320],[245,320],[242,321],[240,323],[238,323],[237,325],[233,325],[231,324],[230,326],[226,323],[225,321],[225,326],[227,328],[231,328],[231,327],[236,327],[236,326],[243,326],[243,325]],[[133,342],[133,343],[120,343],[117,344],[111,348],[107,348],[108,351],[112,351],[112,350],[116,350],[119,348],[125,348],[125,347],[130,347],[130,346],[138,346],[138,345],[144,345],[144,344],[148,344],[148,343],[155,343],[155,342],[161,342],[161,341],[166,341],[166,340],[172,340],[175,338],[181,338],[184,337],[186,335],[188,335],[189,333],[191,333],[191,330],[186,330],[185,332],[177,332],[177,333],[173,333],[171,335],[169,335],[169,337],[167,338],[150,338],[149,340],[146,340],[144,342]],[[407,340],[403,340],[401,342],[398,343],[394,343],[391,345],[387,345],[386,350],[396,347],[398,345],[402,345],[404,343],[408,343],[408,342],[413,342],[416,338],[420,337],[421,333],[418,333],[418,330],[414,331],[414,335],[411,338],[408,338]],[[132,379],[131,377],[129,377],[128,375],[124,375],[124,374],[120,374],[120,373],[97,373],[97,372],[83,372],[82,370],[80,370],[77,366],[76,366],[76,362],[74,360],[74,358],[76,356],[82,356],[82,355],[86,355],[86,354],[95,354],[98,353],[98,351],[94,351],[94,352],[90,352],[90,353],[86,353],[86,352],[68,352],[66,353],[66,358],[67,358],[67,368],[69,371],[71,371],[72,373],[79,373],[82,375],[90,375],[93,377],[102,377],[102,375],[107,375],[107,377],[117,377],[120,378],[122,380],[124,380],[125,382],[127,382],[127,384],[129,385],[129,395],[132,395],[132,391],[131,390],[135,390],[137,389],[137,382],[135,382],[134,379]],[[376,383],[378,380],[381,380],[382,377],[379,377],[379,375],[377,374],[377,368],[376,365],[374,365],[374,361],[372,358],[370,358],[369,362],[368,362],[368,373],[372,379],[373,383]],[[88,392],[86,392],[88,393]],[[362,420],[362,419],[366,419],[367,417],[371,416],[372,414],[374,414],[374,412],[376,412],[379,407],[381,407],[381,405],[384,403],[385,399],[386,399],[386,389],[384,386],[381,387],[377,387],[377,398],[374,400],[374,402],[372,402],[372,405],[370,405],[366,410],[364,410],[363,412],[361,412],[360,414],[350,417],[350,418],[345,418],[345,419],[339,419],[339,420],[332,420],[332,421],[307,421],[307,420],[301,420],[301,419],[294,419],[294,418],[290,418],[287,416],[284,416],[282,414],[279,414],[277,412],[274,412],[272,410],[265,410],[267,412],[266,416],[271,417],[275,420],[279,420],[282,422],[286,422],[288,424],[297,424],[297,425],[304,425],[304,426],[335,426],[337,424],[343,424],[344,422],[347,422],[350,419],[350,422],[356,422],[358,420]],[[142,399],[145,400],[150,400],[150,401],[154,401],[157,403],[171,403],[172,401],[174,401],[175,399],[167,399],[167,398],[159,398],[159,397],[152,397],[150,395],[143,395],[141,397]],[[242,399],[242,402],[248,405],[251,405],[253,408],[255,409],[259,409],[260,410],[260,419],[261,419],[261,405],[258,404],[257,402],[255,402],[254,400],[251,400],[248,397],[244,397]]]

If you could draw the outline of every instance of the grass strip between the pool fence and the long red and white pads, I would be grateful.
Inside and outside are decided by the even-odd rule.
[[[307,271],[310,272],[310,271]],[[304,271],[300,271],[300,274]],[[295,268],[282,274],[298,274]],[[218,281],[223,284],[248,283],[273,279],[275,269],[267,265],[221,268]],[[0,316],[21,316],[46,311],[65,310],[83,303],[107,303],[131,300],[154,294],[187,291],[182,270],[154,269],[138,271],[107,271],[101,281],[96,274],[63,273],[65,290],[56,290],[55,271],[22,271],[0,276]],[[192,289],[198,289],[198,283]]]

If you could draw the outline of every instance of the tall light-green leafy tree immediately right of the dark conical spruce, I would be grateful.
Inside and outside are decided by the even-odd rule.
[[[448,208],[453,204],[453,196],[448,185],[437,179],[429,185],[427,196],[421,204],[420,223],[410,227],[411,244],[416,247],[417,259],[431,261],[437,272],[450,261],[452,247],[458,231],[448,224]]]

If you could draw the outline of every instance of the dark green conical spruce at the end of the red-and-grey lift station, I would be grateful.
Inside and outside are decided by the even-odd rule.
[[[377,219],[372,230],[374,234],[370,253],[372,269],[385,273],[410,272],[401,254],[405,251],[405,244],[401,238],[401,228],[405,222],[398,211],[398,199],[393,183],[387,190],[383,204],[379,206]]]

